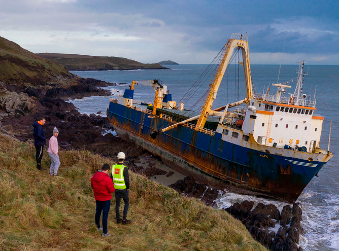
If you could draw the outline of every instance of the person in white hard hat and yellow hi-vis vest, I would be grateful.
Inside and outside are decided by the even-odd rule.
[[[122,223],[123,225],[131,223],[130,220],[127,220],[127,211],[129,206],[129,174],[128,174],[128,168],[127,166],[124,166],[124,159],[125,154],[123,152],[120,152],[118,154],[118,164],[113,165],[110,177],[113,180],[114,188],[115,188],[115,213],[117,216],[117,223]],[[120,218],[120,201],[121,198],[124,200],[124,211],[122,220]]]

